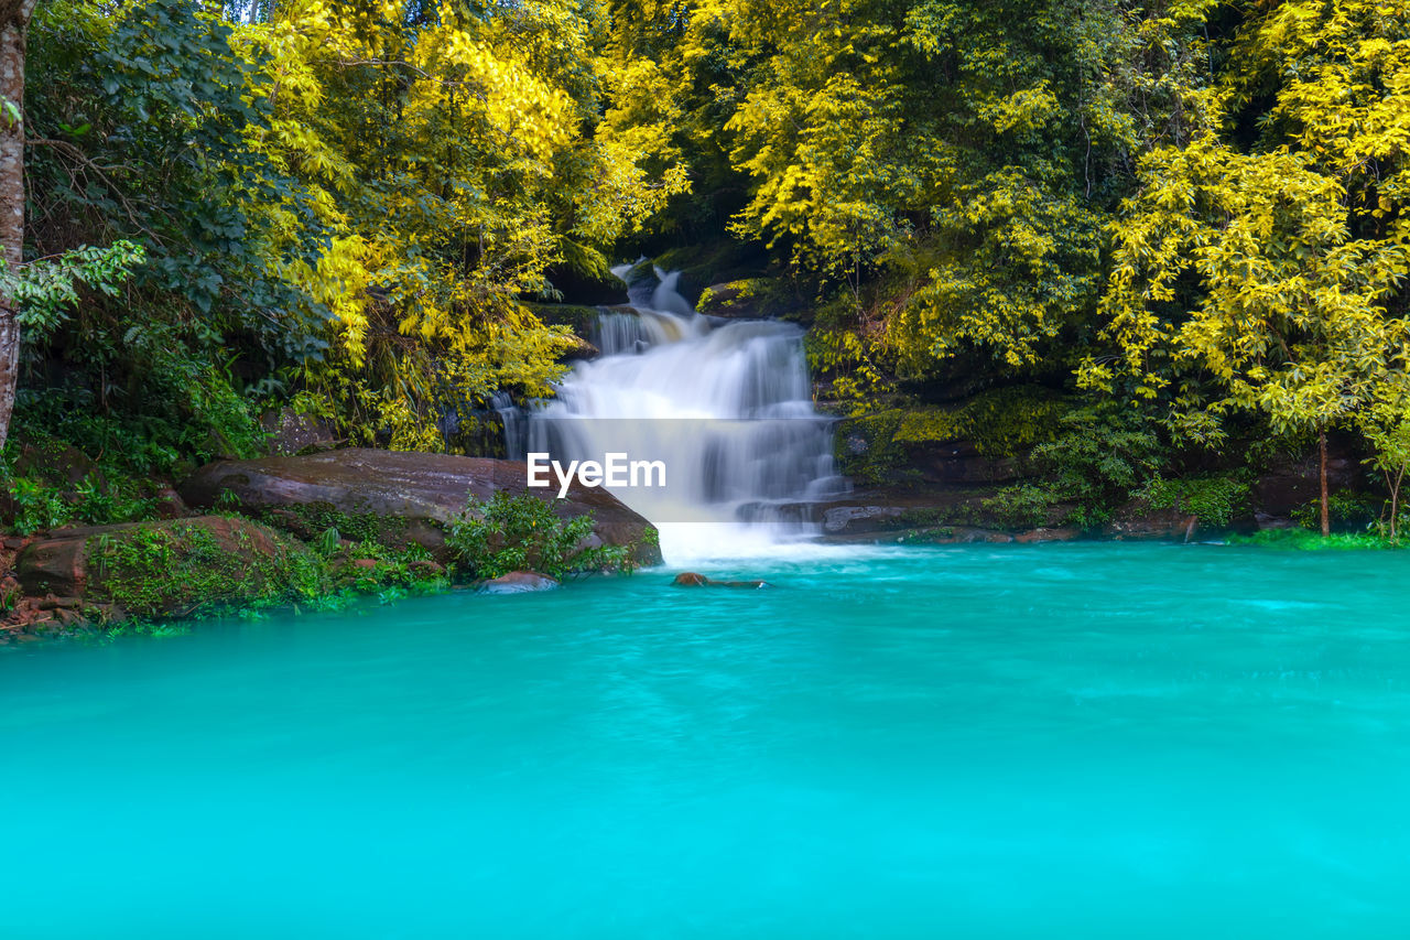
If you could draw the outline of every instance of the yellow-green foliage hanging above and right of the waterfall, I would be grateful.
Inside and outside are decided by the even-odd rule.
[[[663,158],[726,165],[725,192],[743,174],[735,233],[839,291],[823,350],[870,385],[976,346],[1032,370],[1090,318],[1127,154],[1165,133],[1213,4],[612,6],[663,104],[609,123],[677,128]]]

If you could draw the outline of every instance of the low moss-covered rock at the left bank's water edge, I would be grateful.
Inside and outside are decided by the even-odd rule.
[[[97,560],[104,545],[131,550],[109,569]],[[118,603],[162,617],[275,597],[289,587],[290,562],[302,552],[258,522],[206,515],[55,529],[20,553],[16,573],[27,594],[51,596],[55,608]]]

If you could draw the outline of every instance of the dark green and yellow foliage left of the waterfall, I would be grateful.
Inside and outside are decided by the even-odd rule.
[[[169,471],[212,435],[247,450],[259,398],[446,449],[495,390],[550,394],[571,339],[523,298],[553,265],[605,271],[688,186],[602,124],[603,27],[575,0],[42,3],[27,257],[51,260],[27,268],[51,299],[20,425],[151,442]]]

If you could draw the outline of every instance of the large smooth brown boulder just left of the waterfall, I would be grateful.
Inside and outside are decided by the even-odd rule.
[[[633,546],[639,565],[661,563],[651,524],[606,490],[574,483],[568,497],[558,500],[556,488],[530,490],[526,480],[519,460],[351,447],[209,464],[182,484],[180,494],[189,505],[233,505],[300,538],[333,526],[392,548],[420,545],[446,562],[443,526],[464,511],[467,497],[529,493],[548,502],[560,519],[592,512],[603,545]]]

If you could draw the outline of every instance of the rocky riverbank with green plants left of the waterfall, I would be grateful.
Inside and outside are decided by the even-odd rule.
[[[179,518],[6,539],[0,642],[330,608],[360,594],[495,577],[515,562],[557,574],[661,560],[654,528],[605,490],[574,486],[567,498],[540,501],[526,493],[525,466],[506,460],[347,449],[220,462],[185,480],[179,498],[190,507]],[[495,512],[519,514],[534,531],[515,531],[516,518]],[[533,555],[536,543],[550,555]]]

